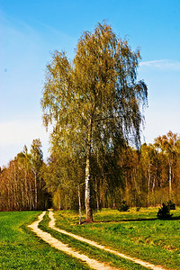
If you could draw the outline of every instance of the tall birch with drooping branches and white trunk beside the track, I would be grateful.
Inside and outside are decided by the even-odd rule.
[[[91,207],[91,153],[113,148],[122,139],[140,141],[147,85],[137,78],[139,49],[118,39],[110,25],[85,31],[71,63],[56,51],[47,66],[41,106],[43,121],[53,125],[51,141],[71,154],[85,156],[85,213]],[[56,143],[57,145],[57,143]]]

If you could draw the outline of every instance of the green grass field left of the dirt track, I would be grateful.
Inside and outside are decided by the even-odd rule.
[[[0,212],[0,269],[90,269],[49,247],[27,227],[40,211]]]

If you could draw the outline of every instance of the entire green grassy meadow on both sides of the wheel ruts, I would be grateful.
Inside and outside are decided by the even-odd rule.
[[[180,208],[171,212],[172,220],[157,220],[157,208],[128,212],[103,209],[94,212],[94,223],[81,225],[75,211],[55,211],[55,218],[59,229],[166,269],[180,269]],[[31,232],[27,225],[39,214],[40,211],[0,212],[0,269],[90,269],[76,258],[49,247]],[[120,269],[147,269],[49,229],[48,223],[47,212],[40,229],[88,257]]]

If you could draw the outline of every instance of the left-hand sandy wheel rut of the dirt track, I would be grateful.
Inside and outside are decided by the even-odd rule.
[[[101,262],[98,262],[92,258],[89,258],[85,256],[84,254],[80,254],[77,251],[74,251],[71,247],[68,247],[66,244],[63,244],[58,239],[53,238],[48,232],[45,232],[38,228],[38,225],[40,221],[43,219],[43,216],[45,215],[46,211],[43,211],[40,216],[38,217],[38,220],[33,222],[29,227],[45,242],[49,243],[51,247],[55,247],[58,250],[61,250],[63,252],[66,252],[67,255],[70,255],[72,257],[76,257],[83,262],[85,262],[88,266],[92,267],[96,270],[118,270],[117,268],[114,268],[112,266],[107,266]],[[52,215],[52,211],[49,211],[49,213]]]

